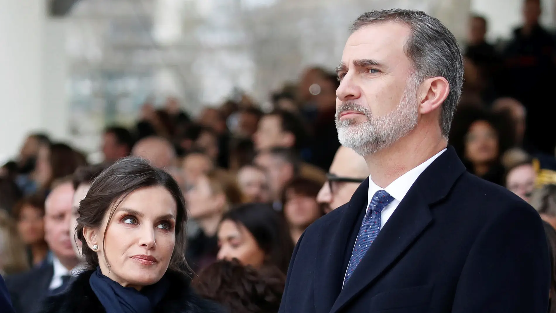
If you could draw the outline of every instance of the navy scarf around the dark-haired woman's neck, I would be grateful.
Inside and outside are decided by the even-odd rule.
[[[143,287],[141,292],[132,287],[123,287],[102,275],[99,267],[91,275],[89,284],[106,313],[152,313],[169,288],[166,277],[156,284]]]

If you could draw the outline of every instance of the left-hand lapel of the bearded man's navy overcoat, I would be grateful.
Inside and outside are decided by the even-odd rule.
[[[319,255],[316,258],[315,273],[315,308],[316,312],[329,312],[334,300],[340,294],[344,280],[344,256],[350,231],[356,225],[356,220],[363,207],[366,206],[369,190],[369,178],[357,188],[350,202],[337,208],[333,213],[339,213],[338,220],[332,221],[327,227],[330,231],[322,230],[319,245]],[[330,213],[329,213],[330,214]]]

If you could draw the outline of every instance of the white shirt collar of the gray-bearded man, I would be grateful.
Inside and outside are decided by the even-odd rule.
[[[390,185],[386,186],[386,188],[381,188],[373,182],[373,178],[369,176],[369,196],[368,199],[372,198],[375,192],[379,190],[384,190],[390,194],[390,196],[394,197],[395,200],[401,202],[405,197],[405,194],[408,193],[413,183],[419,178],[419,175],[425,171],[425,169],[433,163],[436,158],[438,158],[446,148],[442,151],[436,153],[433,157],[429,158],[425,162],[421,163],[420,165],[412,168],[410,171],[406,172],[404,175],[396,178]]]

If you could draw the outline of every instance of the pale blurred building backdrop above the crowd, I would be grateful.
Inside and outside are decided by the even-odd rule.
[[[242,92],[269,92],[318,64],[333,68],[361,12],[432,13],[465,43],[469,14],[492,43],[522,23],[522,0],[2,0],[0,160],[42,130],[91,157],[101,130],[131,125],[147,99],[168,96],[195,115]],[[543,0],[552,28],[554,1]]]

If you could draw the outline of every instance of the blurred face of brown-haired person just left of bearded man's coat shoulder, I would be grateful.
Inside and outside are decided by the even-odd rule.
[[[286,191],[284,216],[290,227],[303,229],[321,217],[321,210],[314,197],[290,189]]]

